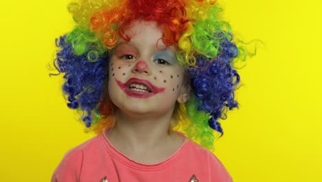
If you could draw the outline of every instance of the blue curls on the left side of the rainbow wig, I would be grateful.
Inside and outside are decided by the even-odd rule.
[[[56,69],[63,72],[63,92],[68,95],[67,106],[72,109],[81,107],[84,113],[82,120],[87,128],[92,125],[92,110],[98,107],[103,97],[104,81],[107,79],[108,53],[95,54],[87,50],[78,56],[74,54],[72,43],[67,42],[66,35],[56,39],[56,46],[61,48],[56,54]],[[93,61],[93,59],[97,61]],[[54,63],[54,65],[56,65]]]

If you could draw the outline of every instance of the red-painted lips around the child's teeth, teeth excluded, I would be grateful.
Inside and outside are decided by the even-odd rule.
[[[150,83],[149,81],[143,80],[143,79],[131,78],[126,83],[122,83],[118,79],[115,79],[115,81],[116,83],[118,83],[118,86],[123,90],[123,92],[125,92],[130,97],[147,98],[155,94],[158,94],[160,92],[163,92],[165,90],[165,88],[159,88],[153,85],[152,83]],[[141,85],[145,85],[147,88],[149,88],[151,92],[138,92],[135,90],[131,90],[129,89],[129,85],[131,85],[131,83],[138,83]]]

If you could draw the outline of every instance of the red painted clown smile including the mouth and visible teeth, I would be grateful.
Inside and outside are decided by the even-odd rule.
[[[147,98],[163,92],[165,88],[158,88],[147,80],[131,78],[126,83],[115,79],[118,86],[131,97]]]

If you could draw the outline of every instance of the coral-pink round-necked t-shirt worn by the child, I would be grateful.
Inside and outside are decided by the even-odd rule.
[[[217,157],[185,138],[175,154],[161,163],[145,165],[121,154],[105,133],[69,150],[52,176],[52,182],[230,182]]]

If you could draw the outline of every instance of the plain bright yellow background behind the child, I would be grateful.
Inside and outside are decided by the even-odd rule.
[[[67,150],[91,138],[48,77],[69,1],[0,3],[0,181],[50,181]],[[239,110],[216,154],[234,181],[322,181],[321,1],[227,0],[237,37],[261,46],[239,70]]]

